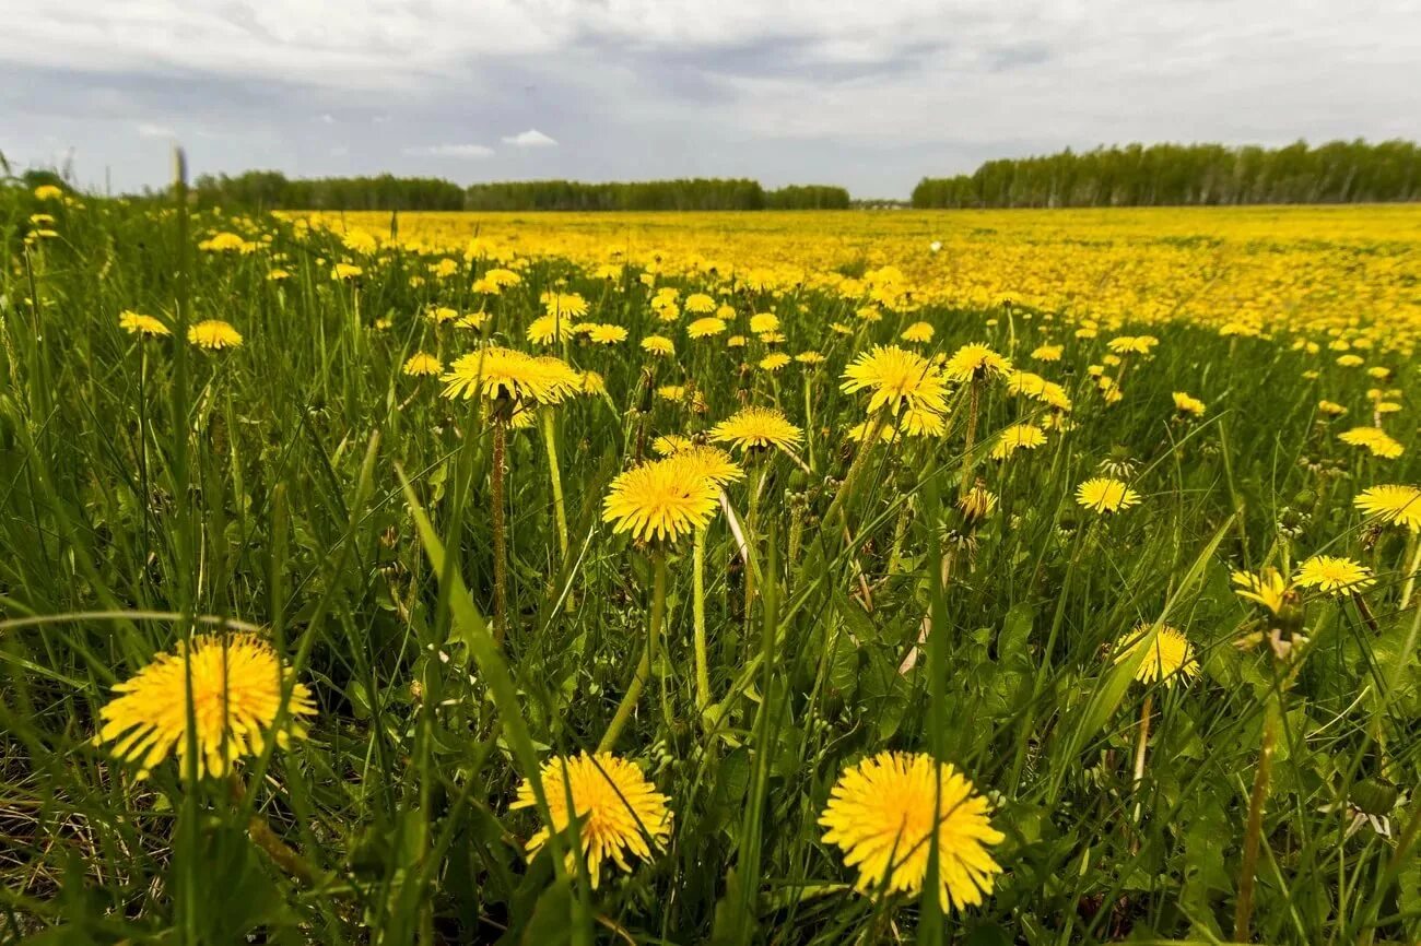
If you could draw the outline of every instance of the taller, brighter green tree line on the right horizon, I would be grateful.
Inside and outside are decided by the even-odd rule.
[[[924,178],[914,207],[1154,207],[1421,200],[1421,148],[1407,141],[1286,148],[1125,145],[989,161]]]

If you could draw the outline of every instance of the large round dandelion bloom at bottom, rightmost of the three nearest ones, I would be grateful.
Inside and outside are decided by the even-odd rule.
[[[818,824],[826,844],[858,868],[857,889],[918,893],[928,876],[928,844],[938,845],[942,909],[972,906],[992,892],[1002,868],[986,845],[1003,834],[988,800],[949,763],[922,753],[880,753],[845,768]]]

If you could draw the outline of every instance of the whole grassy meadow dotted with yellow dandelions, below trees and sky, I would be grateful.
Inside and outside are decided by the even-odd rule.
[[[0,942],[1415,943],[1418,247],[3,189]]]

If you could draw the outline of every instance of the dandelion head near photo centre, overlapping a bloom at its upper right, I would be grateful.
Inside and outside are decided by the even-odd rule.
[[[632,467],[612,480],[603,501],[603,521],[612,531],[651,541],[678,540],[710,521],[720,487],[672,455]]]

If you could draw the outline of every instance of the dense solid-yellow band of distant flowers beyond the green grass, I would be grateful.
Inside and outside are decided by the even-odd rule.
[[[388,213],[291,216],[389,240]],[[867,288],[895,308],[1012,301],[1107,330],[1185,318],[1233,334],[1286,327],[1363,338],[1403,354],[1421,332],[1421,207],[1405,205],[406,213],[398,233],[406,247],[432,253],[563,256],[666,276],[713,270],[853,298]]]

